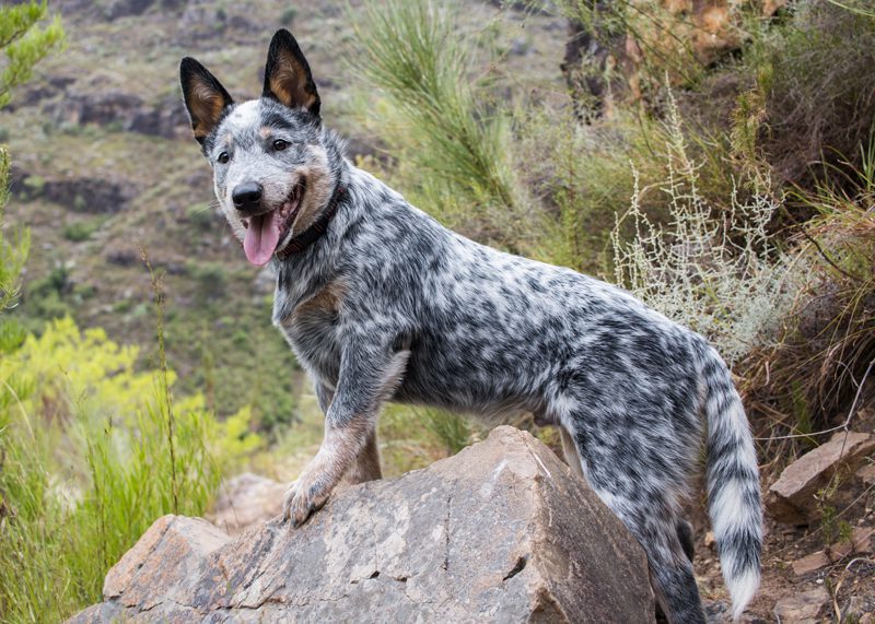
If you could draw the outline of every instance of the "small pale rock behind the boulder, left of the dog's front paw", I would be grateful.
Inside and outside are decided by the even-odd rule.
[[[287,486],[250,472],[235,476],[222,486],[209,519],[220,529],[237,535],[279,515]]]

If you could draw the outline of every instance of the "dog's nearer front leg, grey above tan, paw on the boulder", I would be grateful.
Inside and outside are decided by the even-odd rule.
[[[325,504],[362,454],[371,455],[380,408],[400,381],[408,355],[377,348],[345,349],[337,389],[325,414],[322,447],[285,494],[283,516],[294,526]]]

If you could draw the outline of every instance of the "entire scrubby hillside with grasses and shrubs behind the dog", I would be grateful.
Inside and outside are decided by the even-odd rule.
[[[30,86],[60,24],[45,4],[0,9],[0,103],[20,86],[0,111],[15,153],[15,226],[0,228],[13,308],[0,325],[0,620],[94,602],[156,517],[202,514],[241,470],[292,479],[318,447],[315,398],[270,327],[271,276],[244,266],[206,203],[175,86],[178,58],[196,54],[235,96],[257,95],[280,25],[360,166],[470,237],[619,283],[714,342],[767,479],[855,416],[875,357],[875,16],[862,0],[733,2],[712,22],[662,0],[142,4],[71,5],[75,49]],[[569,23],[596,52],[563,80]],[[393,475],[482,432],[390,405],[380,434]]]

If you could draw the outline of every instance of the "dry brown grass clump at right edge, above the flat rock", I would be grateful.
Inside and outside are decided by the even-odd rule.
[[[750,395],[780,434],[828,427],[875,362],[875,140],[839,190],[821,184],[795,201],[816,216],[796,234],[798,289],[780,343],[759,354]],[[853,416],[854,414],[850,414]],[[807,438],[805,438],[807,439]],[[814,441],[816,438],[812,438]]]

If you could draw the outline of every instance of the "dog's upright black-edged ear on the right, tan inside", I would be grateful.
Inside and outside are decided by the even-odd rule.
[[[270,42],[265,68],[262,97],[272,97],[289,108],[304,108],[319,115],[319,94],[310,66],[289,31],[277,31]]]

